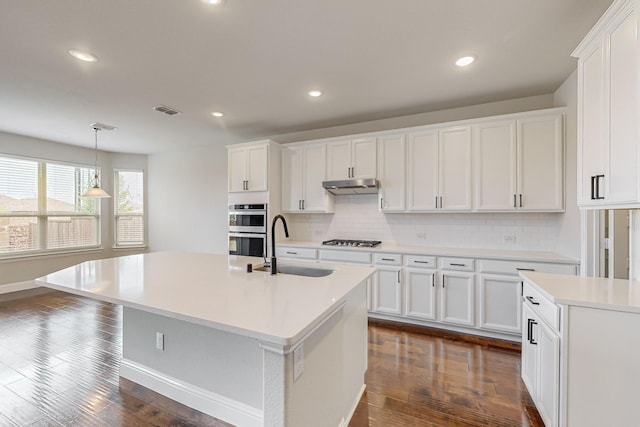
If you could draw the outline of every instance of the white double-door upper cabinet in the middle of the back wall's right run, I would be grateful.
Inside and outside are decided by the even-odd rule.
[[[471,127],[408,135],[409,211],[471,210]]]

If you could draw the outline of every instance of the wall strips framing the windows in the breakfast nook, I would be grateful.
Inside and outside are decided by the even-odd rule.
[[[42,139],[30,138],[0,132],[0,153],[44,160],[55,160],[75,164],[93,165],[95,151],[92,149],[60,144]],[[100,151],[98,164],[101,169],[102,187],[113,194],[113,169],[147,168],[147,156],[137,154],[116,154]],[[102,248],[80,254],[57,254],[19,259],[0,260],[0,293],[21,289],[22,282],[30,282],[47,273],[98,258],[128,255],[140,250],[112,249],[113,245],[113,199],[102,200]],[[24,285],[28,286],[28,285]]]

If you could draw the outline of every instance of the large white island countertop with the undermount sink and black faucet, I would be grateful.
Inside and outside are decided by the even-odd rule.
[[[247,273],[248,263],[262,258],[154,252],[87,261],[36,283],[288,346],[375,271],[339,265],[326,277],[272,276]]]

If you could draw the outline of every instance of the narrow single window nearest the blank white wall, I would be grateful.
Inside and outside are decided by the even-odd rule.
[[[139,170],[115,171],[115,246],[143,246],[144,174]]]

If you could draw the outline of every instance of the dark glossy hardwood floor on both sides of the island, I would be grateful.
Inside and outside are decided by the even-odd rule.
[[[0,426],[229,426],[118,376],[120,306],[49,292],[0,301]],[[520,354],[369,327],[350,426],[535,426]]]

